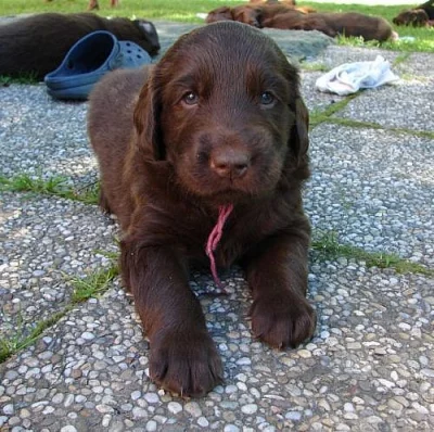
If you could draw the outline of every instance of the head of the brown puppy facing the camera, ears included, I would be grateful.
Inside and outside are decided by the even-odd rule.
[[[307,171],[297,71],[244,24],[181,37],[143,87],[135,124],[146,157],[169,162],[183,190],[213,203],[267,195],[289,173]]]

